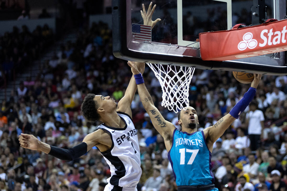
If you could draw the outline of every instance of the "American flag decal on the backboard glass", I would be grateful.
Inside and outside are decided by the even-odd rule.
[[[152,41],[152,27],[147,25],[131,24],[132,34],[136,40]]]

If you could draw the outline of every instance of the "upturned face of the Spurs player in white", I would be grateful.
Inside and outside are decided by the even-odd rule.
[[[97,101],[98,103],[98,111],[102,111],[102,109],[104,109],[105,112],[110,113],[117,109],[118,104],[114,99],[111,99],[110,96],[104,97],[102,95],[96,95],[94,101]]]

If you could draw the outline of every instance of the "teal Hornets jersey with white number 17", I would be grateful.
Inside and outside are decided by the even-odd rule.
[[[214,176],[210,158],[211,152],[206,145],[203,131],[189,134],[174,129],[168,159],[177,186],[212,184]]]

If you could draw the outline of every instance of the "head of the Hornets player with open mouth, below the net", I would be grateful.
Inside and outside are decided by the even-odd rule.
[[[197,128],[198,123],[198,117],[196,114],[196,110],[193,107],[187,107],[186,110],[181,110],[181,119],[179,120],[179,124],[182,125],[182,127],[187,127],[190,129]]]

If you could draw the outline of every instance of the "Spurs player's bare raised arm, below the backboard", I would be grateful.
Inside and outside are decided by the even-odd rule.
[[[135,62],[139,70],[144,73],[145,63],[144,62]],[[137,90],[137,84],[135,83],[134,76],[131,77],[129,81],[129,85],[125,91],[124,97],[119,101],[117,111],[127,113],[132,117],[131,114],[131,102],[133,101],[133,97],[135,96],[135,91]]]

